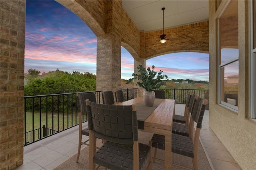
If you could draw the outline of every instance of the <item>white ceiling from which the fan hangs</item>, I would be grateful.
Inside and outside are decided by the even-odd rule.
[[[140,31],[151,32],[208,20],[208,0],[122,0]]]

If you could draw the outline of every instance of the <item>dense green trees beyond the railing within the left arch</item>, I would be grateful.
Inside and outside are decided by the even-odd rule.
[[[96,75],[78,71],[68,73],[59,69],[42,75],[36,69],[29,69],[25,74],[24,96],[82,91],[96,91]]]

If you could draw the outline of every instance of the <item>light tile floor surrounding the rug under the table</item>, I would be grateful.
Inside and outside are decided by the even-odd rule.
[[[176,104],[175,114],[183,115],[184,107],[185,105]],[[215,170],[240,170],[241,168],[211,131],[208,120],[209,111],[206,110],[200,138],[213,168]],[[83,136],[83,140],[86,138],[87,136]],[[82,147],[86,146],[82,145]],[[78,126],[25,146],[24,162],[16,170],[52,170],[76,154],[77,148]]]

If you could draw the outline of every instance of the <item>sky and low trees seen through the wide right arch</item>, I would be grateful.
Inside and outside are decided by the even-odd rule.
[[[147,67],[162,70],[170,81],[167,89],[208,89],[209,54],[196,52],[168,53],[147,60]]]

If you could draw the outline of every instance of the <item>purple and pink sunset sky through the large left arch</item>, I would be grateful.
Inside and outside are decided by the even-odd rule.
[[[96,74],[97,37],[62,4],[27,1],[25,26],[25,73],[32,68]]]

